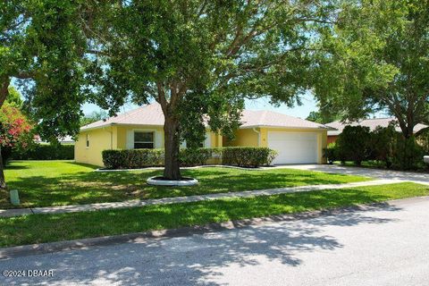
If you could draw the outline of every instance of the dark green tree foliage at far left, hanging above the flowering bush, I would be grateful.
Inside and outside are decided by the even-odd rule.
[[[85,102],[84,73],[92,2],[6,0],[0,2],[0,107],[14,80],[29,90],[38,134],[57,139],[76,134]],[[12,89],[13,92],[13,89]],[[0,162],[1,150],[0,150]],[[5,189],[0,164],[0,189]]]

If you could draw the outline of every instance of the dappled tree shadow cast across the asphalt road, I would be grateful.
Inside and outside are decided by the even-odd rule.
[[[4,269],[13,269],[12,265],[20,265],[23,269],[53,269],[54,277],[38,279],[38,282],[51,285],[221,285],[227,280],[225,269],[231,266],[243,273],[268,262],[279,267],[297,267],[306,262],[300,256],[302,253],[343,248],[337,238],[325,231],[328,226],[347,231],[359,224],[395,222],[395,219],[371,213],[377,211],[397,212],[400,208],[383,204],[308,220],[209,231],[164,240],[135,240],[31,259],[19,257],[4,261]],[[265,268],[265,273],[260,274],[269,272]],[[34,278],[29,279],[19,282],[35,282]],[[7,279],[4,282],[13,285],[18,281]]]

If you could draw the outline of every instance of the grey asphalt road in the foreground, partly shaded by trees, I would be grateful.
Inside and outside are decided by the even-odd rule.
[[[4,285],[428,285],[429,198],[164,240],[0,260]]]

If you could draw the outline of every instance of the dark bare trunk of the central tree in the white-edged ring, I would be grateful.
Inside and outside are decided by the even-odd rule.
[[[164,178],[170,180],[181,179],[181,168],[179,164],[179,150],[181,139],[179,133],[179,121],[165,114],[164,122]]]

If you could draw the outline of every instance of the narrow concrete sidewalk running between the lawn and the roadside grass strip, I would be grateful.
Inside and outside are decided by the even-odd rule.
[[[376,185],[386,185],[403,182],[400,180],[374,180],[374,181],[360,181],[345,184],[325,184],[325,185],[310,185],[280,189],[257,189],[245,190],[238,192],[207,194],[188,197],[173,197],[173,198],[156,198],[147,200],[128,200],[123,202],[114,203],[100,203],[89,205],[76,205],[76,206],[47,206],[47,207],[33,207],[33,208],[17,208],[17,209],[2,209],[0,210],[0,217],[12,217],[25,214],[63,214],[63,213],[76,213],[88,212],[114,208],[127,208],[139,206],[152,206],[152,205],[167,205],[176,203],[190,203],[204,200],[213,200],[220,198],[248,198],[254,196],[271,196],[299,191],[322,190],[322,189],[344,189],[353,187],[366,187]]]

